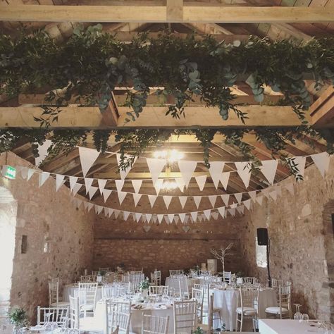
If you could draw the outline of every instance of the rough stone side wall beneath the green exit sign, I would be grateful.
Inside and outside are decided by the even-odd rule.
[[[6,164],[6,154],[0,156],[0,164]],[[27,161],[11,153],[7,164],[28,166]],[[91,268],[95,215],[78,210],[70,202],[68,187],[63,185],[56,192],[51,177],[42,187],[38,187],[37,174],[29,181],[20,175],[16,180],[1,178],[1,185],[11,192],[18,208],[11,307],[24,307],[35,321],[37,305],[49,304],[49,278],[58,276],[62,285],[72,283],[84,268]],[[27,236],[25,254],[21,252],[23,235]],[[48,240],[50,250],[44,252]]]

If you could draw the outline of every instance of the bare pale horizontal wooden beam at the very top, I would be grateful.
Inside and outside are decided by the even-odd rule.
[[[333,22],[330,7],[183,6],[183,20],[171,6],[0,5],[1,21],[145,22],[145,23],[297,23]],[[182,2],[182,1],[181,1]],[[173,5],[174,4],[174,5]],[[169,13],[168,13],[169,8]],[[174,16],[174,17],[173,17]]]

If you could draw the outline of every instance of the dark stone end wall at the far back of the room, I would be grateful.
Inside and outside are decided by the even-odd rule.
[[[207,190],[209,194],[214,194],[215,191],[214,188]],[[183,195],[192,194],[199,193],[195,189],[183,193]],[[201,192],[201,194],[205,193]],[[223,202],[219,201],[221,199],[217,200],[216,206],[223,206]],[[116,194],[111,195],[106,204],[99,198],[96,202],[119,209]],[[210,206],[206,198],[202,199],[199,210],[208,209]],[[151,211],[159,214],[197,211],[192,198],[187,200],[184,210],[178,199],[173,198],[167,211],[162,197],[156,199],[154,209],[151,210],[146,196],[143,196],[135,207],[129,195],[125,198],[122,209],[138,212]],[[107,266],[115,267],[123,263],[126,267],[144,267],[147,275],[154,268],[158,268],[162,271],[164,278],[169,275],[170,269],[192,268],[206,262],[207,259],[212,259],[211,248],[218,249],[233,242],[233,256],[226,258],[225,270],[239,271],[241,264],[240,229],[245,221],[245,216],[237,214],[235,218],[222,219],[219,216],[216,221],[211,218],[210,221],[185,225],[180,221],[178,224],[167,224],[164,220],[161,224],[148,224],[133,221],[131,215],[128,221],[123,221],[122,214],[117,219],[113,218],[113,215],[111,218],[104,218],[100,215],[94,225],[93,266],[98,269]],[[144,228],[149,228],[149,230],[145,231]],[[221,269],[221,263],[218,263],[218,270],[221,271]]]

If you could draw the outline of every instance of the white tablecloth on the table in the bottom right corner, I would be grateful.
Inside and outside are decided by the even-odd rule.
[[[302,321],[290,319],[262,319],[259,321],[259,332],[261,334],[305,334],[305,333],[324,333],[319,332],[316,321]]]

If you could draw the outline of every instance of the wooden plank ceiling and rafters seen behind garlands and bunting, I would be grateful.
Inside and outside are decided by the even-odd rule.
[[[178,18],[178,4],[182,4],[182,1],[127,1],[127,0],[0,0],[1,6],[20,6],[20,5],[56,5],[56,6],[166,6],[167,5],[167,15],[173,18],[171,21],[175,22]],[[326,11],[332,11],[334,8],[334,0],[201,0],[201,1],[183,1],[184,6],[237,6],[239,8],[244,6],[252,7],[271,7],[271,6],[295,6],[295,7],[309,7],[309,8],[325,8]],[[174,7],[172,6],[174,4]],[[172,6],[172,7],[171,7]],[[171,8],[170,8],[171,7]],[[3,7],[4,8],[4,7]],[[169,8],[169,9],[168,9]],[[0,8],[1,9],[1,8]],[[179,8],[180,9],[180,8]],[[18,16],[16,16],[18,17]],[[176,19],[175,19],[176,18]],[[274,19],[271,20],[275,21]],[[276,20],[277,21],[277,20]],[[299,23],[296,23],[299,21]],[[334,35],[334,23],[332,22],[307,22],[307,20],[295,20],[294,23],[276,22],[276,23],[254,23],[252,20],[247,20],[249,23],[146,23],[146,22],[109,22],[102,23],[103,29],[106,32],[117,34],[119,39],[124,42],[129,41],[138,32],[148,31],[149,34],[154,37],[157,32],[165,30],[168,28],[171,32],[183,37],[188,33],[195,31],[199,35],[211,34],[218,40],[225,40],[227,42],[232,42],[235,39],[245,40],[249,35],[257,35],[259,37],[268,37],[269,39],[295,39],[309,41],[312,37],[329,37]],[[250,23],[252,22],[252,23]],[[259,21],[258,21],[259,22]],[[266,20],[261,20],[261,22],[266,22]],[[2,21],[0,22],[0,32],[16,36],[18,33],[18,28],[25,27],[28,31],[35,29],[44,29],[48,34],[56,39],[59,43],[66,41],[68,37],[73,32],[73,29],[78,25],[78,22],[19,22],[15,20]],[[85,23],[89,25],[89,23]],[[324,120],[326,122],[333,121],[333,87],[328,87],[325,85],[322,89],[316,90],[314,88],[314,82],[311,80],[306,80],[307,88],[312,94],[314,99],[314,106],[312,108],[312,119],[318,124],[322,124]],[[332,89],[332,90],[330,90]],[[154,89],[151,89],[154,92]],[[36,95],[20,95],[16,99],[8,101],[6,97],[0,96],[0,106],[8,107],[22,107],[25,106],[38,106],[43,104],[44,93],[47,90],[37,92]],[[233,87],[234,94],[237,95],[237,101],[242,101],[243,103],[249,104],[251,106],[256,106],[258,103],[254,101],[252,97],[252,92],[245,81],[240,81]],[[272,92],[270,87],[266,87],[266,98],[265,101],[277,101],[280,98],[280,94]],[[319,97],[321,97],[319,99]],[[115,102],[116,105],[121,106],[125,99],[125,90],[119,87],[115,92]],[[317,101],[318,100],[318,101]],[[154,108],[154,105],[160,104],[156,97],[152,95],[148,99],[148,106]],[[196,105],[196,101],[194,102]],[[120,107],[121,108],[121,107]],[[321,123],[322,122],[322,123]],[[334,123],[333,123],[334,125]],[[259,157],[259,159],[271,159],[271,152],[264,147],[264,144],[256,142],[254,135],[248,135],[246,138],[247,142],[254,145],[254,154]],[[92,146],[92,139],[88,140],[88,146]],[[163,145],[166,149],[178,149],[178,151],[183,152],[184,158],[187,160],[197,160],[202,161],[202,147],[199,142],[195,140],[193,136],[180,136],[178,138],[173,137],[171,140]],[[144,156],[152,157],[154,151],[161,149],[161,147],[149,147],[145,152]],[[113,136],[109,140],[109,151],[117,152],[119,150],[119,144],[114,142]],[[302,140],[296,140],[295,145],[289,145],[286,149],[286,153],[290,155],[300,156],[307,154],[314,154],[321,151],[325,151],[326,146],[323,142],[314,142],[314,147],[309,147],[307,144],[302,142]],[[13,149],[13,152],[19,156],[27,159],[30,163],[34,163],[35,159],[32,156],[32,148],[30,144],[27,144],[24,139]],[[131,153],[131,152],[128,152]],[[242,156],[230,145],[223,143],[223,137],[221,135],[216,135],[214,139],[214,144],[210,148],[210,159],[211,161],[240,161]],[[311,163],[311,159],[307,159],[307,164]],[[82,171],[80,168],[80,159],[78,149],[73,149],[69,154],[59,154],[56,158],[48,161],[42,167],[44,171],[51,173],[61,173],[66,175],[82,176]],[[226,163],[224,171],[233,171],[234,166],[231,163]],[[113,154],[101,154],[94,166],[90,169],[87,177],[89,178],[119,178],[117,171],[116,156]],[[133,166],[130,177],[131,178],[147,178],[147,173],[149,172],[147,164],[144,160],[139,159],[135,166]],[[172,174],[179,175],[178,167],[172,166]],[[203,163],[197,165],[196,175],[207,174],[207,169],[204,167]],[[276,173],[275,182],[283,180],[289,175],[287,169],[283,166],[278,165],[278,171]],[[95,185],[95,184],[93,184]],[[257,175],[252,175],[249,188],[247,190],[259,190],[266,187],[267,183],[264,176],[261,173]],[[110,189],[114,188],[114,183],[107,183],[106,187]],[[211,190],[211,194],[225,194],[225,193],[235,193],[244,192],[245,186],[242,180],[237,176],[237,173],[231,173],[230,182],[228,183],[228,189],[224,190],[220,187],[218,190],[214,188],[211,179],[208,177],[206,186],[204,189]],[[123,188],[125,191],[133,192],[130,183],[125,183]],[[197,184],[192,178],[189,191],[197,190]],[[150,180],[144,181],[141,189],[142,193],[154,194],[154,188]],[[85,192],[81,192],[85,195]],[[178,195],[180,193],[173,192],[173,194]],[[183,193],[187,195],[187,191]]]

